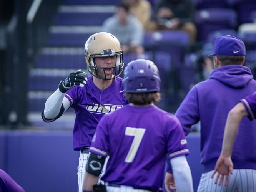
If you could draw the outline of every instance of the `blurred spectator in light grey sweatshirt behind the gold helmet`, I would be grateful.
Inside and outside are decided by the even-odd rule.
[[[118,5],[116,14],[107,18],[102,31],[111,33],[120,41],[123,53],[143,53],[143,27],[140,21],[129,13],[125,3]]]

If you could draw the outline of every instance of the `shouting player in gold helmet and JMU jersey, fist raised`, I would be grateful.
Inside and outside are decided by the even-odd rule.
[[[73,147],[80,151],[78,185],[82,192],[88,149],[100,119],[127,104],[123,93],[123,52],[118,39],[110,33],[96,33],[85,43],[85,59],[91,76],[78,70],[60,81],[58,89],[47,99],[42,118],[58,119],[68,109],[76,114]]]

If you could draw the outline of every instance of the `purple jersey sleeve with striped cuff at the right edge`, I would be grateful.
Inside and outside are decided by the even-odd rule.
[[[246,96],[246,98],[241,99],[240,102],[244,104],[246,111],[248,113],[248,118],[252,121],[256,116],[256,92]]]

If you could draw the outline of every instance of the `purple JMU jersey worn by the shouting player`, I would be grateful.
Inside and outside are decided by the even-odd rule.
[[[128,104],[123,93],[122,78],[115,78],[113,83],[104,90],[95,86],[92,76],[88,76],[87,79],[86,86],[83,88],[74,86],[65,94],[76,114],[73,130],[75,151],[90,147],[97,124],[105,114]]]

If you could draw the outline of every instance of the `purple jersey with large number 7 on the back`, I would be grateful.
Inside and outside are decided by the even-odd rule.
[[[110,158],[102,180],[133,187],[163,184],[166,154],[188,154],[180,121],[156,106],[131,106],[104,116],[90,152]]]

